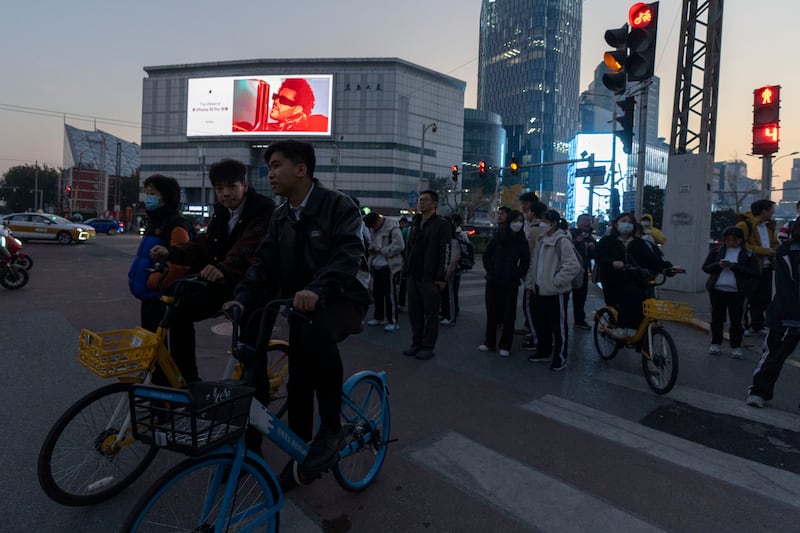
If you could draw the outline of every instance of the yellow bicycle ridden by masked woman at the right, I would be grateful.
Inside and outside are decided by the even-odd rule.
[[[625,267],[626,270],[641,270]],[[685,302],[659,300],[655,297],[655,287],[663,285],[667,277],[681,270],[666,269],[647,283],[653,297],[642,302],[644,318],[633,335],[619,335],[617,329],[618,311],[613,306],[604,306],[594,313],[594,346],[600,357],[606,361],[613,359],[620,348],[635,348],[642,354],[642,371],[647,384],[657,394],[666,394],[675,386],[678,379],[678,351],[675,341],[661,323],[664,320],[691,322],[692,307]]]

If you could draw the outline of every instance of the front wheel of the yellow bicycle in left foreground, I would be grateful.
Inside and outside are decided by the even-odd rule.
[[[102,502],[136,481],[152,462],[158,448],[135,440],[131,432],[130,387],[112,383],[90,392],[47,434],[37,468],[39,484],[51,499],[72,506]]]

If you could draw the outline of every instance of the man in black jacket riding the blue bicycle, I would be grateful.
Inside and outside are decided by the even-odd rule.
[[[326,189],[314,177],[316,157],[309,143],[270,144],[264,155],[272,192],[286,201],[275,210],[253,265],[236,287],[234,305],[255,309],[276,297],[310,320],[289,318],[289,427],[311,441],[300,465],[304,477],[330,468],[344,445],[341,421],[342,359],[337,344],[363,328],[369,293],[356,277],[364,255],[361,216],[345,194]],[[266,369],[256,383],[269,391]],[[321,425],[312,440],[314,396]],[[290,462],[281,474],[291,486]]]

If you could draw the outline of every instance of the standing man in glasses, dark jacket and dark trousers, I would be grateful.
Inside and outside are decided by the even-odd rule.
[[[411,347],[403,353],[420,360],[431,359],[439,336],[439,303],[450,266],[452,225],[436,214],[439,195],[419,193],[419,212],[411,223],[403,272],[408,285],[408,318]]]

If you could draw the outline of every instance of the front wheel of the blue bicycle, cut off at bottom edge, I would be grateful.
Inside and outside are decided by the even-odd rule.
[[[123,531],[278,531],[280,489],[255,459],[245,457],[230,509],[223,499],[234,456],[187,459],[164,474],[139,500]]]

